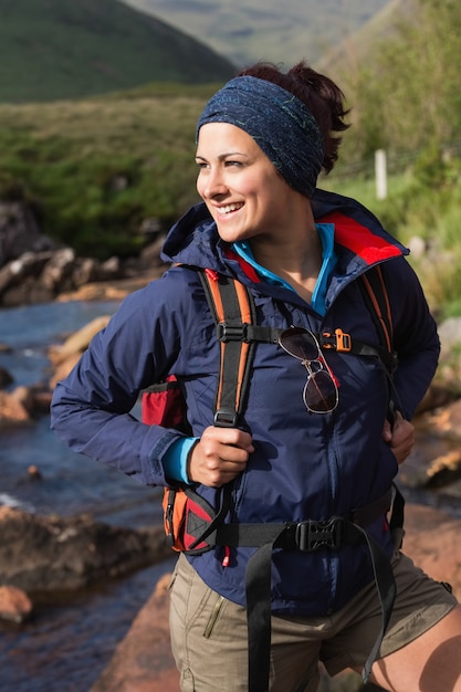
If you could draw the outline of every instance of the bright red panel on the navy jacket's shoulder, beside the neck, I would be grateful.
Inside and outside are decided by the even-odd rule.
[[[366,226],[338,211],[327,213],[316,221],[318,223],[334,223],[335,241],[352,250],[367,264],[401,255],[401,251],[388,240],[376,235]]]

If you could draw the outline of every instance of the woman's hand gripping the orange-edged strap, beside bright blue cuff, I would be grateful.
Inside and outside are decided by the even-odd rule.
[[[221,487],[244,471],[252,452],[250,433],[238,428],[210,426],[189,454],[189,481]]]

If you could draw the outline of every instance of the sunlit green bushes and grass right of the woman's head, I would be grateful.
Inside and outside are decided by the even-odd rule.
[[[332,65],[353,104],[353,127],[328,185],[368,205],[404,242],[423,239],[429,251],[410,261],[429,302],[441,316],[461,315],[461,4],[401,7],[406,14],[395,13],[358,66],[344,55]],[[371,179],[378,148],[387,151],[391,176],[381,202]]]

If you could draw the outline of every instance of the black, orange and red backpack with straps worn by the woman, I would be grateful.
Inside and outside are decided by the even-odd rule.
[[[197,269],[197,268],[196,268]],[[221,345],[220,374],[214,399],[214,424],[235,427],[243,411],[254,348],[258,342],[279,340],[281,329],[255,324],[255,310],[250,291],[239,282],[211,270],[197,269],[207,301],[217,325]],[[360,291],[378,332],[378,348],[353,339],[340,328],[316,337],[323,349],[336,349],[363,356],[378,356],[388,375],[389,390],[397,364],[392,349],[392,319],[387,290],[379,265],[371,268],[359,282]],[[391,391],[390,391],[391,394]],[[389,394],[389,419],[394,405]],[[142,418],[149,424],[175,427],[187,432],[185,405],[175,376],[153,385],[142,398]],[[364,665],[367,682],[389,622],[396,587],[389,559],[381,547],[364,530],[392,505],[389,525],[394,531],[404,521],[404,499],[397,487],[377,501],[357,510],[350,517],[334,517],[328,522],[306,521],[291,524],[226,524],[231,506],[231,487],[221,489],[220,503],[214,510],[192,487],[181,483],[164,489],[164,524],[169,545],[179,552],[198,555],[217,546],[224,552],[222,565],[229,564],[231,547],[256,547],[248,563],[245,575],[249,629],[249,691],[269,689],[271,644],[271,559],[275,547],[316,551],[337,549],[340,545],[365,543],[368,546],[383,611],[381,630]]]

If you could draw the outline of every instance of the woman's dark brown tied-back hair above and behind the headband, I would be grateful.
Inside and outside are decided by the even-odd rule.
[[[294,94],[315,117],[324,140],[322,168],[329,172],[337,158],[342,133],[349,127],[344,122],[349,113],[345,108],[345,96],[340,88],[327,76],[315,72],[305,61],[298,62],[286,73],[272,63],[260,62],[239,72],[238,76],[253,76],[273,82]]]

